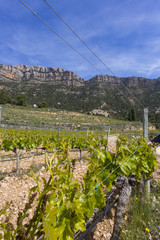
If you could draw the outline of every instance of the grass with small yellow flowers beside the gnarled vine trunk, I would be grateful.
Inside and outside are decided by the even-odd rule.
[[[152,182],[151,195],[134,191],[124,217],[122,240],[160,239],[160,183]]]

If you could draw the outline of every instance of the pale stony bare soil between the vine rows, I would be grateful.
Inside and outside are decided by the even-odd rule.
[[[111,136],[109,138],[109,151],[115,151],[116,149],[116,141],[117,136]],[[1,154],[5,154],[1,152]],[[11,153],[7,153],[11,154]],[[28,153],[24,153],[28,154]],[[45,170],[45,155],[34,157],[35,152],[29,153],[31,157],[27,159],[27,161],[21,161],[21,171],[27,170],[30,166],[40,165],[40,170],[37,174],[40,176],[48,178],[48,172]],[[33,156],[32,156],[33,154]],[[83,153],[83,157],[85,158],[86,153]],[[8,156],[7,156],[8,157]],[[72,153],[73,158],[79,159],[79,152]],[[158,160],[158,169],[155,170],[153,177],[160,181],[160,153],[156,154]],[[31,187],[35,185],[35,181],[30,178],[26,174],[22,174],[21,177],[17,177],[12,171],[15,170],[16,162],[5,162],[1,163],[0,171],[10,172],[3,180],[0,181],[0,209],[2,209],[6,202],[10,202],[9,213],[12,219],[12,223],[16,225],[17,213],[18,211],[23,210],[27,200],[28,200],[28,192]],[[85,174],[87,170],[87,162],[83,161],[82,164],[80,162],[76,163],[75,168],[75,177],[79,180],[82,179],[83,174]],[[96,226],[96,230],[94,231],[93,239],[95,240],[108,240],[111,237],[114,225],[114,209],[111,210],[111,213],[102,219]],[[33,209],[30,210],[30,215],[33,214]],[[3,220],[3,216],[0,220]],[[87,238],[86,238],[87,239]]]

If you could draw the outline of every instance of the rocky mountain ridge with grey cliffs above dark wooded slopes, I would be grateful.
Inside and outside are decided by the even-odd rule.
[[[131,107],[140,111],[144,105],[151,114],[160,108],[160,78],[96,75],[86,81],[59,67],[0,64],[0,89],[15,99],[25,93],[29,104],[45,101],[49,107],[83,112],[102,109],[119,118],[126,118]]]

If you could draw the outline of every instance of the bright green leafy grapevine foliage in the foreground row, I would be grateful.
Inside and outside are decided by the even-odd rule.
[[[128,177],[134,174],[137,181],[140,181],[143,173],[146,177],[150,177],[156,167],[153,150],[143,138],[128,142],[128,139],[120,137],[116,153],[109,153],[105,149],[104,138],[92,135],[78,140],[75,136],[65,136],[64,139],[60,136],[57,141],[57,137],[56,134],[42,137],[44,146],[50,150],[54,148],[54,153],[52,159],[48,158],[47,161],[50,178],[48,181],[42,179],[42,190],[39,185],[40,177],[32,175],[37,185],[31,189],[29,196],[34,197],[34,193],[38,196],[33,218],[28,224],[23,225],[28,211],[26,207],[19,215],[21,224],[17,229],[6,233],[6,226],[2,223],[0,225],[2,231],[8,234],[5,239],[35,239],[39,236],[48,240],[74,239],[76,231],[85,230],[85,222],[92,216],[94,209],[105,206],[104,189],[110,191],[118,175]],[[8,142],[11,141],[10,138],[7,139]],[[2,140],[2,147],[7,146],[5,141]],[[42,141],[39,143],[42,144]],[[19,149],[24,147],[18,141],[14,144]],[[24,145],[28,146],[27,144]],[[91,153],[88,159],[88,171],[82,182],[74,179],[75,160],[69,158],[69,150],[75,146],[79,149],[85,146]]]

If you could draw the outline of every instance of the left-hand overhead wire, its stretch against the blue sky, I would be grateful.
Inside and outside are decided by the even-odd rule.
[[[86,58],[83,54],[81,54],[78,50],[76,50],[74,47],[71,46],[70,43],[68,43],[63,37],[61,37],[53,28],[51,28],[42,18],[40,18],[35,12],[32,11],[31,8],[29,8],[22,0],[18,0],[21,2],[35,17],[37,17],[46,27],[48,27],[54,34],[57,35],[63,42],[65,42],[72,50],[74,50],[76,53],[78,53],[82,58],[84,58],[92,67],[94,67],[98,72],[103,74],[93,63],[89,61],[88,58]]]

